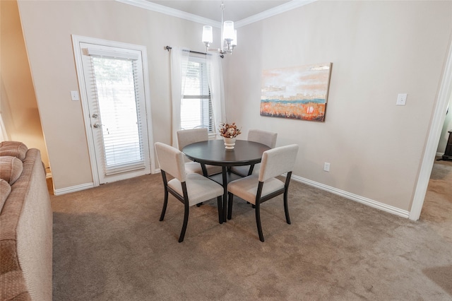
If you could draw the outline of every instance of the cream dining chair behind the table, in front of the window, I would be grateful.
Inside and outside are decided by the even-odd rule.
[[[201,142],[208,140],[208,130],[207,128],[200,129],[182,129],[177,131],[177,146],[179,151],[182,151],[184,146],[188,146],[191,143]],[[197,173],[203,175],[203,170],[201,164],[185,159],[185,170],[187,173]],[[221,172],[221,166],[206,165],[207,175],[215,175]]]

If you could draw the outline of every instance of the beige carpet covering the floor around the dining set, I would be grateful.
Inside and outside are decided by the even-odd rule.
[[[254,210],[170,197],[160,222],[160,174],[51,196],[54,300],[452,300],[452,163],[434,165],[421,220],[413,222],[291,182]]]

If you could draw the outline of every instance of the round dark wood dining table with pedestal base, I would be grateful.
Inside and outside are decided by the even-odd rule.
[[[194,162],[201,163],[205,177],[213,179],[223,187],[222,221],[226,221],[227,214],[227,183],[242,177],[230,170],[232,166],[250,165],[249,175],[256,163],[262,160],[262,153],[270,148],[262,143],[254,141],[237,140],[233,149],[226,149],[222,140],[208,140],[191,143],[182,148],[182,153]],[[217,175],[207,175],[206,165],[222,167],[222,172]]]

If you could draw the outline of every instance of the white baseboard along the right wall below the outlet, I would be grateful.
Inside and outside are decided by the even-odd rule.
[[[302,182],[304,184],[307,184],[312,187],[319,188],[324,191],[331,192],[332,194],[337,194],[338,196],[343,196],[345,199],[350,199],[352,201],[357,201],[358,203],[363,203],[364,205],[367,205],[372,208],[380,209],[381,211],[386,211],[388,213],[392,213],[396,216],[401,216],[403,218],[408,218],[409,212],[406,210],[402,210],[400,208],[386,205],[386,203],[380,203],[379,201],[374,201],[372,199],[367,199],[364,196],[358,196],[357,194],[352,194],[350,192],[336,189],[334,187],[321,184],[319,182],[311,181],[310,179],[305,179],[304,177],[299,177],[296,175],[292,175],[291,179],[294,179],[297,182]]]

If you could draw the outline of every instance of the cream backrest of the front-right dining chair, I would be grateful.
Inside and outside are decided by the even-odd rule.
[[[291,172],[297,158],[298,145],[280,146],[264,151],[262,154],[259,181],[265,182],[272,177],[278,177],[285,172]]]

